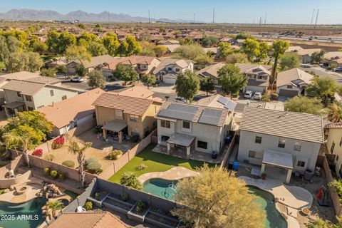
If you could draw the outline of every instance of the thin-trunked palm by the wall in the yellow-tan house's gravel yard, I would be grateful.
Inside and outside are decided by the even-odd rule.
[[[68,152],[73,153],[74,155],[77,155],[77,161],[78,161],[78,174],[80,175],[82,187],[85,186],[85,180],[84,180],[84,165],[86,160],[86,155],[84,155],[84,152],[91,147],[91,142],[83,142],[79,138],[71,138],[68,143]]]

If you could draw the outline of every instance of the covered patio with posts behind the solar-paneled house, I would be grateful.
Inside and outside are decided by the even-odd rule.
[[[190,159],[190,151],[195,149],[195,136],[175,133],[167,142],[167,154],[170,155],[171,147],[185,148],[186,157]]]

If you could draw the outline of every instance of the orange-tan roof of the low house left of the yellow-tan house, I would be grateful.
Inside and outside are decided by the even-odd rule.
[[[95,88],[72,98],[53,103],[53,105],[39,108],[38,111],[44,113],[46,119],[50,120],[56,128],[62,128],[72,120],[79,120],[95,113],[93,102],[102,93],[103,90]]]

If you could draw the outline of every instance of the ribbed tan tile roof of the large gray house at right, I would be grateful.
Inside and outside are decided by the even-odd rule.
[[[240,130],[309,142],[324,142],[323,118],[320,115],[245,107]]]

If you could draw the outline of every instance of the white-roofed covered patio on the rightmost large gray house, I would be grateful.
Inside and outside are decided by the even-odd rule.
[[[292,155],[273,150],[264,151],[262,158],[261,174],[276,175],[276,179],[284,179],[286,183],[291,180],[292,170],[294,169]],[[266,172],[270,171],[270,172]]]

